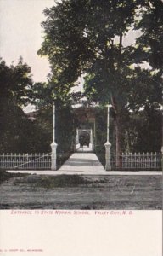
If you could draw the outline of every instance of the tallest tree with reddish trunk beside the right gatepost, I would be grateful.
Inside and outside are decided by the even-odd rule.
[[[128,72],[122,40],[134,21],[136,7],[133,0],[68,0],[46,9],[47,20],[42,23],[45,37],[39,54],[48,55],[59,94],[68,94],[78,77],[88,73],[100,101],[112,103],[117,155],[121,152],[121,110],[126,105],[122,95],[127,84],[123,82]]]

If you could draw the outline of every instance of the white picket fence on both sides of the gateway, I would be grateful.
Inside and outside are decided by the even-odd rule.
[[[48,154],[0,154],[0,169],[6,170],[49,170],[51,153]],[[121,154],[117,163],[111,155],[112,170],[161,170],[161,153]]]

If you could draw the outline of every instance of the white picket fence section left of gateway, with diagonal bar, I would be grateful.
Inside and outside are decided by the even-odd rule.
[[[46,170],[51,168],[49,154],[0,154],[0,169]]]

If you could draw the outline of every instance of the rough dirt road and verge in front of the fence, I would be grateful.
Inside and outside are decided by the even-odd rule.
[[[62,186],[56,177],[12,177],[0,184],[0,209],[162,209],[161,176],[82,178]]]

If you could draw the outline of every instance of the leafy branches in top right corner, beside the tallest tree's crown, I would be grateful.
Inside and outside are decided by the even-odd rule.
[[[154,69],[163,72],[163,2],[145,0],[135,22],[135,29],[141,29],[142,35],[137,39],[137,62],[147,61]]]

